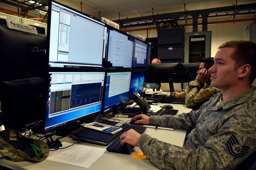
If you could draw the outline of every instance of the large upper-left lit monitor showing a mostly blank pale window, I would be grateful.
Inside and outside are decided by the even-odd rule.
[[[49,1],[47,23],[49,67],[103,67],[105,23],[55,1]]]

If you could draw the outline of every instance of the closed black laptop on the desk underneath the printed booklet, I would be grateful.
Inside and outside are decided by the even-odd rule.
[[[108,121],[103,119],[97,119],[98,123],[107,124],[111,126],[121,127],[123,130],[129,125],[125,123],[115,122],[115,121]],[[98,130],[93,130],[85,127],[81,127],[78,130],[74,130],[69,134],[70,138],[76,139],[76,140],[82,140],[83,142],[88,143],[94,143],[98,145],[108,145],[110,144],[119,134],[123,132],[123,130],[120,130],[119,132],[115,134],[110,134],[106,132],[101,132]]]

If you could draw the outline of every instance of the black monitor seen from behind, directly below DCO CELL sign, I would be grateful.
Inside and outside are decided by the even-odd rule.
[[[46,36],[10,29],[6,20],[3,21],[0,24],[0,81],[44,77]]]

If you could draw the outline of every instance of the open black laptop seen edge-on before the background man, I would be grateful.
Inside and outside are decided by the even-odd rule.
[[[169,79],[169,88],[171,96],[165,96],[161,103],[172,103],[172,104],[185,104],[185,97],[174,96],[173,79]]]

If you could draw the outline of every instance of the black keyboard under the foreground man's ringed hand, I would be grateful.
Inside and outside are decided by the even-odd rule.
[[[130,130],[130,129],[134,129],[139,134],[142,134],[146,130],[146,127],[129,125],[123,131],[123,133],[126,132],[127,130]],[[123,134],[123,133],[121,133],[121,134]],[[115,140],[112,143],[110,143],[110,145],[107,147],[107,151],[129,155],[130,152],[132,151],[132,149],[134,148],[134,146],[132,146],[128,143],[125,143],[124,146],[122,147],[121,143],[120,143],[121,134],[118,137],[116,137]]]

